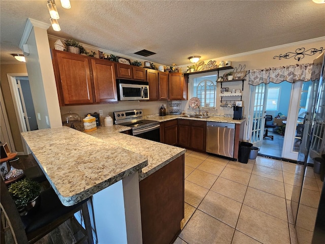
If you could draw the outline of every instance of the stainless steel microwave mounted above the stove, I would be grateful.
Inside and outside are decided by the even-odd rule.
[[[119,101],[149,100],[149,82],[117,79]]]

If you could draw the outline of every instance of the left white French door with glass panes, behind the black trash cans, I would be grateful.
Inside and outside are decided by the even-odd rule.
[[[263,143],[267,85],[250,86],[250,95],[248,138],[254,146],[259,147]]]

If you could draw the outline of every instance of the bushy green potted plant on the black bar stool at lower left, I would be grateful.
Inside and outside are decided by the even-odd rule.
[[[8,191],[16,204],[19,214],[22,216],[39,205],[41,193],[39,182],[25,178],[11,184]]]

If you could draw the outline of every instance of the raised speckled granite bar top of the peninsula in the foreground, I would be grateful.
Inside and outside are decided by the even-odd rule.
[[[114,129],[118,137],[117,132],[125,127]],[[21,135],[66,206],[87,199],[148,165],[144,155],[66,126]]]

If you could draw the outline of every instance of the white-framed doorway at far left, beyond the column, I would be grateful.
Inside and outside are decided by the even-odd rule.
[[[7,74],[7,77],[18,121],[19,132],[38,130],[27,74]],[[25,143],[23,142],[22,144],[24,154],[30,154]]]

